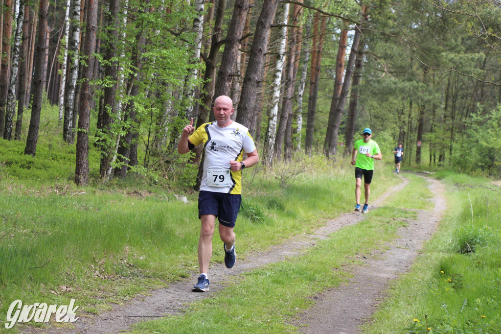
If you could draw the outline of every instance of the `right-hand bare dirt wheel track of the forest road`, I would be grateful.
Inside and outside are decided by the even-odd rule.
[[[376,311],[391,280],[405,273],[418,255],[424,241],[428,240],[446,208],[442,194],[443,186],[435,180],[426,179],[433,193],[431,211],[418,210],[415,220],[400,228],[399,239],[390,249],[379,254],[366,255],[364,266],[354,266],[353,275],[346,285],[315,296],[316,305],[300,315],[295,323],[303,333],[351,334],[358,332]]]

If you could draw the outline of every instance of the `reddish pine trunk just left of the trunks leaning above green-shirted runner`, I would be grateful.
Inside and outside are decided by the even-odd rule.
[[[315,132],[315,113],[317,111],[318,83],[320,80],[320,66],[322,64],[322,49],[324,46],[326,17],[320,18],[317,12],[313,16],[313,44],[310,69],[310,93],[308,96],[308,119],[306,123],[305,149],[311,155],[313,134]],[[320,26],[320,31],[319,31]]]

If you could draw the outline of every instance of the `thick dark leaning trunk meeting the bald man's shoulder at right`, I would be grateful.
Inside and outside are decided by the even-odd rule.
[[[238,104],[238,115],[236,121],[246,126],[251,134],[256,131],[257,115],[253,112],[256,104],[256,97],[263,81],[265,55],[268,50],[268,40],[270,29],[277,11],[278,0],[264,2],[258,19],[256,33],[252,48],[250,50],[249,61],[245,77],[243,78],[242,93]]]

